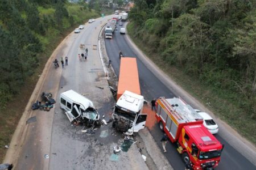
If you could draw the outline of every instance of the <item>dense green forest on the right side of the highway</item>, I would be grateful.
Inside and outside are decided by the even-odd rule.
[[[218,93],[223,105],[236,105],[236,111],[218,111],[255,143],[256,1],[134,2],[129,12],[134,37],[158,59]]]

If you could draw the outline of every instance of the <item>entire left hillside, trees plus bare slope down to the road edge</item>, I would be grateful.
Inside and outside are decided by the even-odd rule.
[[[78,25],[100,12],[93,4],[0,1],[0,160],[51,53]]]

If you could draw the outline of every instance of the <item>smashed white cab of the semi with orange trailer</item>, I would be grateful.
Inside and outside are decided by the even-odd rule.
[[[143,104],[143,96],[125,91],[114,107],[113,128],[129,135],[144,129],[147,114],[142,113]]]

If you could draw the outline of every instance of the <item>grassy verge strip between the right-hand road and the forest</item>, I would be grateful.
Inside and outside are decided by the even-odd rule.
[[[243,109],[238,107],[238,100],[230,100],[228,97],[229,94],[226,94],[224,90],[216,91],[213,87],[204,86],[197,78],[184,74],[181,68],[168,65],[159,57],[158,53],[152,52],[150,48],[142,42],[142,39],[135,37],[133,30],[133,24],[128,24],[127,32],[131,39],[148,58],[158,65],[168,76],[174,79],[180,87],[194,96],[217,117],[227,122],[233,129],[256,146],[256,133],[254,133],[256,122],[253,118],[246,116],[247,114],[245,114]]]

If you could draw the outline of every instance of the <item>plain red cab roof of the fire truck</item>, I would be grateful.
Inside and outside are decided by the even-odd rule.
[[[222,148],[221,143],[214,137],[213,134],[207,130],[204,125],[187,125],[183,127],[189,137],[193,138],[193,141],[197,143],[201,151],[209,151],[213,148],[220,150]]]

